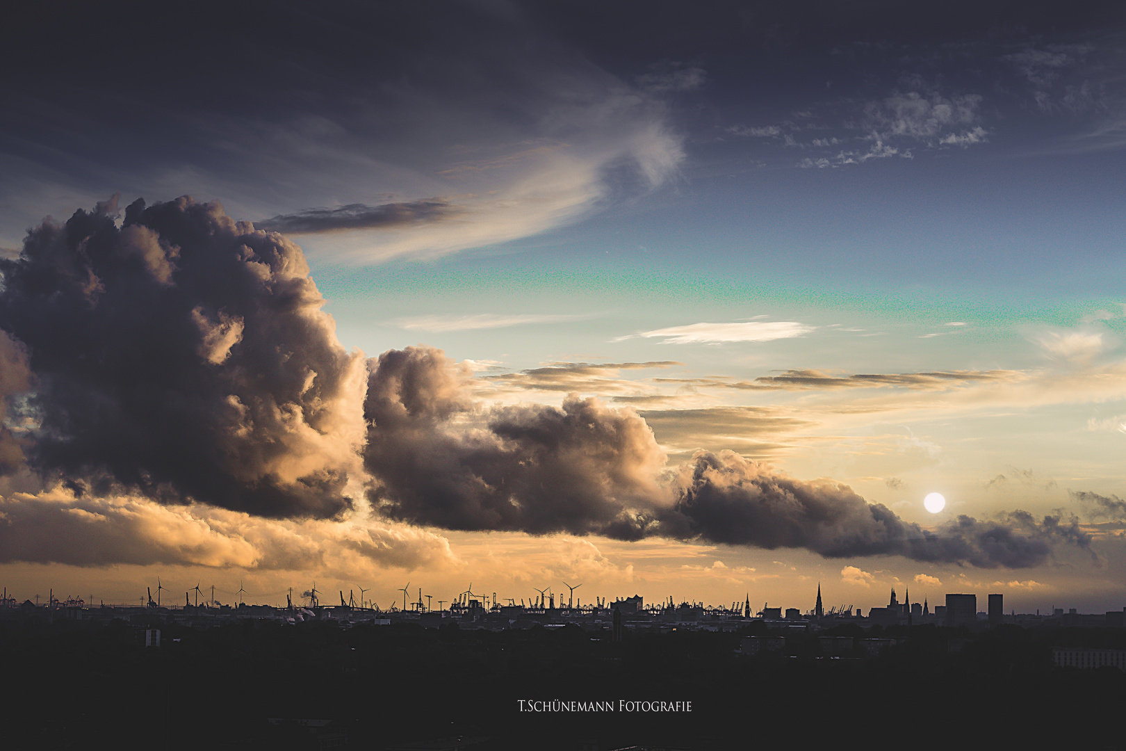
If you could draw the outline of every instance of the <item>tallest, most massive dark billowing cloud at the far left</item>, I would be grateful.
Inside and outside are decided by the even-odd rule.
[[[300,248],[189,198],[77,212],[0,260],[28,352],[30,465],[270,517],[331,517],[363,440],[363,359]]]

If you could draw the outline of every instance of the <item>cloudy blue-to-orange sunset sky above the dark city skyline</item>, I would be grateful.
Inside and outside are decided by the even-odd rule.
[[[12,10],[8,591],[1126,606],[1126,10],[778,6]]]

